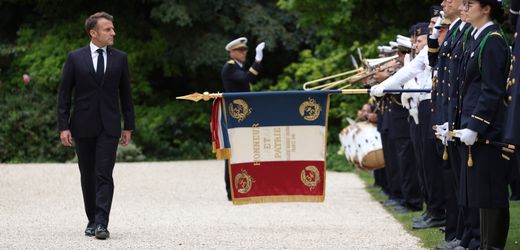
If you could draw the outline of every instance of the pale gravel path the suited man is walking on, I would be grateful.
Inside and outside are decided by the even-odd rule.
[[[0,249],[421,249],[349,173],[324,203],[233,206],[221,161],[122,163],[111,238],[83,235],[74,164],[0,165]]]

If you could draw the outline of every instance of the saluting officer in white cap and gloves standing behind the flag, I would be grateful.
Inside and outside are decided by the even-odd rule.
[[[263,50],[265,43],[262,42],[256,46],[255,62],[249,69],[246,69],[244,63],[247,56],[247,38],[240,37],[229,42],[226,45],[226,51],[229,52],[231,58],[222,67],[222,84],[224,92],[249,92],[250,84],[257,82],[260,72],[260,63],[263,59]],[[229,161],[226,160],[224,167],[224,180],[226,183],[226,192],[228,200],[231,200],[231,184],[229,177]]]

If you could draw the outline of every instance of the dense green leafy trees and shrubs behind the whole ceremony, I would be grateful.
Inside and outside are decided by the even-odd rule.
[[[66,55],[87,45],[83,22],[96,11],[115,17],[115,47],[129,54],[137,130],[119,159],[162,161],[213,157],[210,104],[175,97],[221,90],[228,41],[267,42],[254,90],[301,89],[305,81],[352,69],[357,48],[375,57],[377,45],[427,21],[433,4],[439,1],[0,1],[0,162],[74,158],[58,140],[56,95]],[[332,98],[329,168],[345,169],[337,135],[366,99]]]

